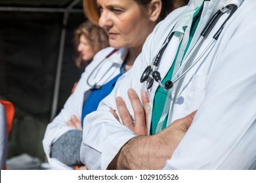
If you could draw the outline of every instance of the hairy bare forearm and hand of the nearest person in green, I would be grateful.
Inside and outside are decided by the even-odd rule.
[[[181,142],[196,111],[175,120],[156,135],[134,137],[119,150],[108,169],[163,169]]]

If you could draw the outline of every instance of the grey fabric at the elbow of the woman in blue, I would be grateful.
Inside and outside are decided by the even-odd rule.
[[[82,165],[80,160],[80,147],[83,139],[83,132],[70,130],[62,135],[51,146],[51,158],[68,166]]]

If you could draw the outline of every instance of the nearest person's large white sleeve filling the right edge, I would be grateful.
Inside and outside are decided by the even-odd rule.
[[[223,30],[205,98],[164,169],[256,169],[256,23],[249,15]]]

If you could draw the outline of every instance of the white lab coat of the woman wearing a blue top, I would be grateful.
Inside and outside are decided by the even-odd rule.
[[[85,91],[91,88],[87,84],[87,78],[89,75],[91,75],[91,78],[89,79],[90,84],[95,84],[98,78],[104,76],[98,83],[102,85],[112,80],[112,78],[120,73],[119,68],[123,64],[123,61],[127,55],[127,50],[124,48],[117,50],[117,52],[112,54],[112,56],[105,59],[101,65],[98,65],[104,58],[106,58],[106,56],[108,56],[108,54],[110,54],[110,52],[112,52],[112,50],[114,50],[114,48],[105,48],[100,50],[100,52],[95,55],[93,61],[85,68],[85,72],[81,75],[77,87],[75,88],[75,92],[70,95],[60,114],[54,118],[53,122],[47,125],[45,137],[43,139],[43,149],[52,169],[74,169],[74,167],[68,167],[67,165],[64,165],[64,163],[58,161],[58,159],[50,157],[51,145],[64,133],[75,129],[74,127],[70,127],[66,124],[72,115],[75,115],[77,118],[81,119],[83,94]],[[93,72],[95,68],[96,70]],[[98,71],[98,69],[100,70]]]

